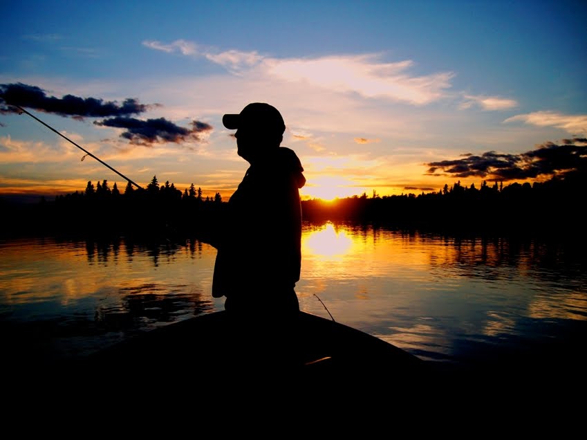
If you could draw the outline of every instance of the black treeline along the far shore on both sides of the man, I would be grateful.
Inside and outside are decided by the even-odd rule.
[[[391,228],[451,234],[555,235],[585,237],[585,172],[568,172],[543,183],[503,183],[467,187],[460,181],[438,192],[399,196],[362,196],[302,201],[306,221],[378,223]],[[259,194],[263,197],[263,194]],[[271,204],[273,201],[267,200]],[[216,228],[227,203],[220,193],[203,198],[192,184],[183,192],[156,176],[146,189],[128,183],[88,182],[84,192],[41,199],[32,205],[8,205],[6,233],[27,235],[124,235],[149,239],[196,237]]]

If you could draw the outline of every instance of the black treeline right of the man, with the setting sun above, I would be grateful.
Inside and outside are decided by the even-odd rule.
[[[461,185],[399,196],[353,196],[303,203],[309,221],[360,221],[451,234],[585,237],[587,173],[542,183]]]

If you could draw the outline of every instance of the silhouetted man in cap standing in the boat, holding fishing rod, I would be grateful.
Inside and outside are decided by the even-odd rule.
[[[250,167],[228,202],[216,244],[212,295],[225,296],[230,313],[295,313],[304,169],[295,152],[280,146],[286,125],[275,107],[253,102],[222,121],[236,129],[238,154]]]

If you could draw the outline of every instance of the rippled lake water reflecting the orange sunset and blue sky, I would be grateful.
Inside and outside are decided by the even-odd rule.
[[[583,357],[586,259],[573,246],[324,223],[304,225],[302,253],[302,310],[424,360],[467,367],[511,354],[563,354],[566,365]],[[196,240],[3,239],[7,359],[80,356],[221,310],[211,295],[215,257]]]

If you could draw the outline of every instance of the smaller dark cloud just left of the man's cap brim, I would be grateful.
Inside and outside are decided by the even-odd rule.
[[[125,131],[120,137],[128,139],[133,145],[153,145],[156,143],[183,143],[190,140],[201,141],[202,136],[212,131],[212,126],[197,120],[192,121],[192,127],[179,127],[165,119],[140,120],[136,118],[111,118],[94,122],[101,127],[123,128]]]

